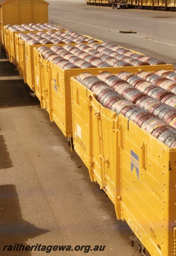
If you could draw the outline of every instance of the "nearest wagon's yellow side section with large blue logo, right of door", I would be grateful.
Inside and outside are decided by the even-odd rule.
[[[123,218],[151,255],[174,255],[176,150],[121,117]]]

